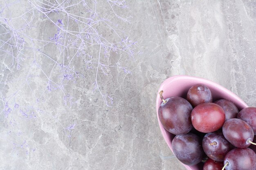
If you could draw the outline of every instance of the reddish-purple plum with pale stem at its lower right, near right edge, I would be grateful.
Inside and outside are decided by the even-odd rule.
[[[227,141],[237,148],[247,148],[249,141],[253,141],[254,132],[245,121],[241,119],[229,119],[222,126],[222,132]]]

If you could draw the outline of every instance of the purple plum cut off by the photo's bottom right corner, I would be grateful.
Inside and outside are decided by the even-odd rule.
[[[224,159],[225,170],[256,170],[256,154],[250,148],[235,148]]]

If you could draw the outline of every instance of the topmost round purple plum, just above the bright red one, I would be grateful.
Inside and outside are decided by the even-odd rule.
[[[212,102],[211,91],[203,84],[198,84],[189,88],[186,98],[193,107],[202,103]]]

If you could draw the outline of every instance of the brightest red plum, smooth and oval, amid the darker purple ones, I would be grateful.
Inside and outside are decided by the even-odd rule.
[[[225,113],[218,104],[203,103],[192,110],[191,121],[194,128],[200,132],[214,132],[224,124]]]

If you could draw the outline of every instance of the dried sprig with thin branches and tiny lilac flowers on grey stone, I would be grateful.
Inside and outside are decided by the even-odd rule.
[[[109,13],[100,11],[100,3],[105,3],[103,5],[109,9]],[[23,11],[14,11],[15,5],[24,6]],[[74,129],[75,124],[65,128],[58,116],[45,112],[42,102],[45,102],[46,95],[60,92],[63,105],[72,108],[76,104],[76,98],[67,89],[75,86],[78,79],[88,79],[86,72],[94,77],[92,91],[98,91],[106,106],[112,106],[113,97],[102,88],[100,77],[111,74],[112,68],[117,68],[124,74],[132,73],[128,66],[111,63],[109,58],[122,54],[124,60],[133,60],[139,54],[137,42],[130,40],[126,31],[120,29],[119,24],[112,20],[115,17],[123,23],[129,23],[131,17],[122,17],[116,12],[117,8],[127,9],[126,1],[0,2],[0,67],[2,70],[17,71],[21,75],[14,80],[20,85],[17,89],[11,89],[12,94],[7,95],[0,91],[0,104],[3,106],[0,113],[4,113],[5,123],[10,128],[18,129],[17,119],[32,121],[37,119],[38,114],[44,113],[56,121],[68,136],[66,131]],[[42,31],[49,33],[47,37],[42,32],[35,32],[41,24],[46,25]],[[108,36],[109,33],[112,34],[111,37]],[[49,64],[50,71],[43,66],[45,61]],[[77,63],[82,63],[82,66]],[[35,92],[32,83],[36,82],[39,73],[40,79],[44,80],[40,82],[40,88],[44,88]],[[12,84],[12,81],[0,79],[3,85]],[[27,104],[20,102],[26,100],[22,93],[25,88],[29,90],[32,99]],[[12,114],[14,112],[16,114]],[[14,143],[19,146],[21,142]]]

